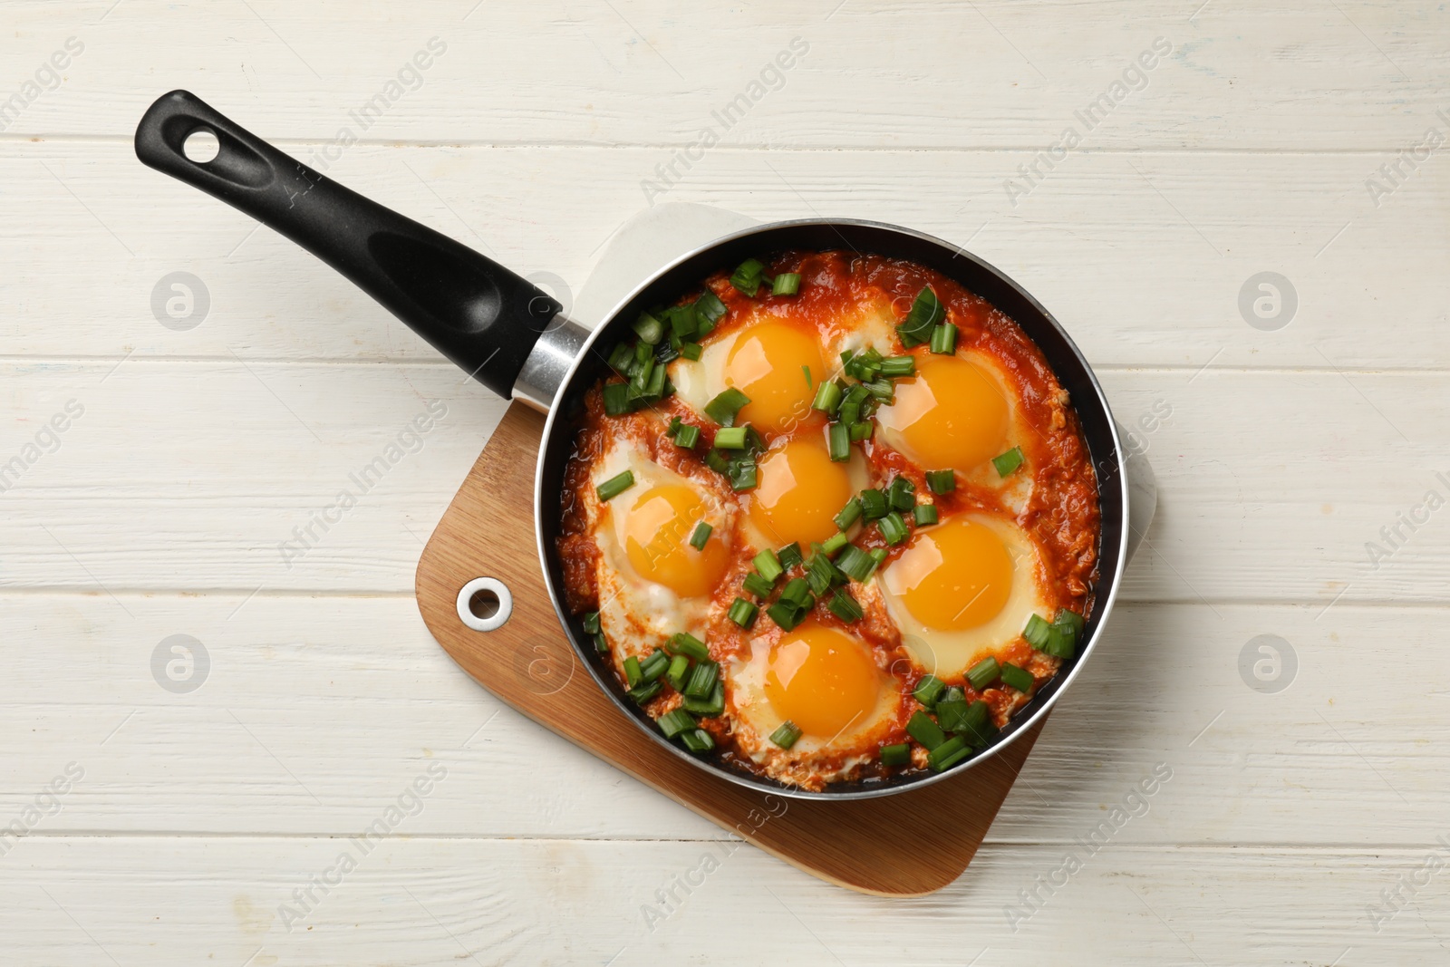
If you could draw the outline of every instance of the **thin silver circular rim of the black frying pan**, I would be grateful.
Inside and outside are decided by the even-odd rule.
[[[763,235],[763,233],[767,233],[767,232],[771,232],[771,231],[776,231],[776,229],[796,228],[796,226],[821,226],[821,228],[851,226],[851,228],[870,228],[870,229],[880,229],[880,231],[886,231],[886,232],[895,232],[895,233],[899,233],[899,235],[906,235],[906,236],[916,238],[916,239],[924,241],[924,242],[929,242],[929,244],[932,244],[932,245],[935,245],[935,246],[938,246],[938,248],[941,248],[941,249],[944,249],[947,252],[951,252],[954,257],[964,258],[969,262],[977,265],[979,268],[990,273],[992,275],[996,275],[1003,284],[1009,286],[1022,299],[1025,299],[1041,315],[1041,318],[1053,329],[1057,331],[1057,335],[1063,339],[1063,342],[1066,344],[1067,349],[1073,354],[1073,357],[1076,357],[1077,364],[1082,367],[1082,371],[1085,373],[1085,375],[1088,377],[1089,384],[1093,389],[1098,406],[1101,407],[1102,415],[1105,418],[1106,432],[1108,432],[1109,442],[1111,442],[1111,449],[1112,449],[1111,455],[1114,458],[1114,464],[1118,467],[1118,473],[1115,474],[1115,477],[1116,477],[1116,487],[1118,487],[1119,500],[1121,500],[1121,506],[1122,506],[1122,526],[1119,528],[1119,534],[1118,534],[1116,567],[1114,568],[1111,580],[1108,581],[1106,593],[1103,593],[1103,594],[1101,594],[1098,597],[1098,607],[1101,610],[1099,610],[1099,615],[1096,618],[1096,628],[1093,629],[1093,634],[1089,636],[1086,645],[1082,648],[1082,652],[1073,661],[1072,668],[1067,670],[1066,676],[1060,677],[1060,678],[1054,678],[1054,681],[1057,684],[1054,687],[1053,694],[1047,696],[1047,699],[1043,702],[1043,705],[1040,707],[1037,707],[1025,719],[1014,719],[1014,721],[1011,721],[1012,731],[1006,736],[1003,736],[1000,741],[992,742],[986,750],[983,750],[977,755],[973,755],[972,758],[969,758],[961,765],[957,765],[956,768],[948,768],[948,770],[945,770],[942,773],[922,774],[918,779],[912,779],[909,781],[905,781],[905,783],[900,783],[900,784],[895,784],[895,786],[883,786],[883,787],[879,787],[879,789],[848,789],[848,790],[835,792],[835,793],[832,793],[832,792],[811,792],[811,790],[803,790],[803,789],[790,789],[790,787],[786,787],[783,784],[774,783],[774,780],[757,779],[757,777],[745,774],[745,773],[735,773],[732,770],[722,768],[722,767],[716,765],[713,761],[710,761],[709,758],[700,758],[700,757],[692,755],[686,750],[674,745],[673,742],[670,742],[668,739],[666,739],[664,735],[658,732],[658,729],[650,729],[650,728],[647,728],[645,723],[638,716],[632,715],[631,710],[626,706],[622,705],[619,696],[616,696],[615,692],[612,689],[609,689],[608,684],[603,680],[600,680],[597,668],[594,668],[594,664],[589,660],[589,655],[586,655],[583,652],[583,649],[580,648],[579,642],[574,641],[574,635],[570,632],[570,618],[571,616],[564,612],[558,589],[554,586],[554,576],[550,571],[548,549],[545,548],[545,536],[544,536],[544,520],[542,520],[542,515],[539,513],[541,507],[544,506],[544,503],[542,503],[542,497],[544,497],[544,494],[542,494],[542,486],[544,486],[544,454],[547,452],[547,448],[550,447],[550,441],[552,439],[552,435],[554,435],[554,431],[555,431],[555,423],[560,419],[560,412],[563,409],[560,406],[560,402],[567,396],[571,384],[574,383],[574,378],[579,375],[580,368],[584,365],[586,360],[589,358],[589,354],[593,349],[594,342],[599,339],[600,333],[603,333],[605,329],[608,329],[610,326],[610,323],[619,316],[619,313],[628,304],[631,304],[635,299],[638,299],[647,289],[650,289],[651,286],[654,286],[658,280],[664,278],[671,271],[674,271],[679,265],[690,261],[692,258],[696,258],[697,255],[709,252],[713,248],[724,246],[724,245],[726,245],[729,242],[734,242],[734,241],[738,241],[741,238],[748,238],[751,235]],[[1034,344],[1035,342],[1037,341],[1034,339]],[[1054,373],[1056,373],[1056,367],[1054,367]],[[1079,407],[1079,403],[1074,400],[1073,406],[1074,406],[1074,410],[1076,410]],[[1099,477],[1098,477],[1099,499],[1101,499],[1101,494],[1103,493],[1103,490],[1105,490],[1105,483],[1101,478],[1101,473],[1099,473]],[[738,229],[735,232],[729,232],[726,235],[715,238],[715,239],[712,239],[709,242],[705,242],[702,245],[697,245],[697,246],[695,246],[695,248],[692,248],[692,249],[680,254],[677,258],[674,258],[668,264],[663,265],[661,268],[655,270],[648,278],[644,278],[639,284],[637,284],[634,289],[631,289],[619,302],[615,303],[615,306],[599,322],[599,325],[596,325],[590,331],[589,336],[584,339],[583,346],[580,346],[579,355],[574,358],[574,361],[570,364],[568,370],[566,371],[564,378],[560,383],[558,390],[555,391],[554,403],[550,406],[548,415],[547,415],[547,418],[544,420],[544,435],[542,435],[541,444],[539,444],[539,457],[538,457],[538,462],[536,462],[536,465],[534,468],[534,539],[535,539],[535,551],[536,551],[536,554],[539,557],[539,565],[541,565],[541,568],[544,571],[544,584],[545,584],[545,587],[548,590],[548,594],[550,594],[550,603],[554,606],[554,613],[555,613],[555,616],[560,621],[560,631],[564,632],[564,635],[570,641],[570,647],[574,649],[573,658],[577,660],[577,661],[580,661],[589,670],[590,677],[594,678],[594,684],[597,684],[605,692],[605,694],[609,696],[609,699],[616,706],[619,706],[621,712],[625,713],[625,718],[628,718],[628,719],[631,719],[631,722],[634,722],[635,728],[639,728],[641,731],[647,732],[652,741],[655,741],[657,744],[660,744],[664,748],[670,750],[671,754],[674,754],[674,755],[677,755],[677,757],[689,761],[693,767],[705,770],[706,773],[718,776],[718,777],[721,777],[721,779],[724,779],[726,781],[731,781],[735,786],[741,786],[744,789],[750,789],[750,790],[754,790],[754,792],[767,793],[767,794],[773,794],[773,796],[784,796],[784,797],[790,797],[790,799],[813,799],[813,800],[828,800],[828,802],[829,800],[858,800],[858,799],[877,799],[877,797],[883,797],[883,796],[896,796],[896,794],[908,793],[911,790],[922,789],[925,786],[929,786],[929,784],[947,780],[947,779],[950,779],[953,776],[960,776],[961,773],[966,773],[966,771],[969,771],[969,770],[980,765],[982,763],[985,763],[985,761],[990,760],[992,757],[995,757],[1002,750],[1005,750],[1009,745],[1012,745],[1012,742],[1018,741],[1025,732],[1031,731],[1053,709],[1053,706],[1057,705],[1058,699],[1061,699],[1063,693],[1067,692],[1067,689],[1077,678],[1077,676],[1082,671],[1082,668],[1088,664],[1088,658],[1093,654],[1093,651],[1096,651],[1096,647],[1098,647],[1099,639],[1102,638],[1103,629],[1108,626],[1108,619],[1112,615],[1112,607],[1116,603],[1118,592],[1122,587],[1122,576],[1124,576],[1124,571],[1125,571],[1125,568],[1128,565],[1128,534],[1130,534],[1130,528],[1131,528],[1131,523],[1130,523],[1130,519],[1128,519],[1128,499],[1130,499],[1128,474],[1124,470],[1122,441],[1118,438],[1118,422],[1116,422],[1116,419],[1114,419],[1112,407],[1108,404],[1108,397],[1103,393],[1102,383],[1098,380],[1098,374],[1088,364],[1088,360],[1083,357],[1082,349],[1077,346],[1077,344],[1073,341],[1073,338],[1067,333],[1067,331],[1063,328],[1063,325],[1060,322],[1057,322],[1057,319],[1050,312],[1047,312],[1047,309],[1030,291],[1027,291],[1027,289],[1024,289],[1014,278],[1011,278],[1006,273],[1003,273],[1002,270],[999,270],[996,265],[987,262],[986,260],[983,260],[983,258],[980,258],[977,255],[973,255],[972,252],[966,251],[964,248],[961,248],[958,245],[953,245],[951,242],[947,242],[945,239],[937,238],[934,235],[928,235],[925,232],[919,232],[916,229],[905,228],[905,226],[900,226],[900,225],[892,225],[889,222],[876,222],[876,220],[870,220],[870,219],[848,219],[848,217],[841,217],[841,219],[829,219],[829,217],[787,219],[787,220],[780,220],[780,222],[767,222],[767,223],[763,223],[763,225],[753,225],[753,226],[748,226],[748,228],[742,228],[742,229]],[[829,789],[829,786],[826,789]]]

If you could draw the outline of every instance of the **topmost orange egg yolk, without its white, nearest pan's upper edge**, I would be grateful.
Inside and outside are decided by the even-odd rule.
[[[763,433],[784,432],[816,419],[811,409],[812,386],[825,375],[816,338],[779,322],[745,329],[725,357],[725,386],[750,397],[738,422],[751,423]]]

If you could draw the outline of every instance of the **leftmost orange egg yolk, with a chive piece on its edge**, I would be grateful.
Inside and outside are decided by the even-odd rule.
[[[725,574],[729,551],[718,535],[710,535],[702,551],[690,547],[690,535],[703,519],[705,502],[689,487],[661,484],[647,490],[625,518],[629,567],[682,597],[708,594]]]

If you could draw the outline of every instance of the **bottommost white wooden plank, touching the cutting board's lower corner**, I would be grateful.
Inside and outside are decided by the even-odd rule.
[[[348,838],[64,837],[6,857],[0,922],[17,963],[87,967],[107,954],[122,964],[632,966],[702,951],[771,964],[1364,967],[1443,957],[1443,873],[1402,893],[1412,900],[1379,932],[1367,916],[1382,890],[1441,851],[1431,838],[1315,852],[1108,841],[1092,855],[1079,847],[1069,876],[1063,847],[987,847],[970,877],[903,900],[847,893],[726,844],[403,832],[360,855]],[[344,854],[354,868],[342,871]],[[1040,886],[1054,874],[1060,886]],[[323,876],[334,886],[294,899]],[[666,906],[657,896],[671,889]],[[1041,902],[1014,931],[1008,909],[1027,909],[1025,890]]]

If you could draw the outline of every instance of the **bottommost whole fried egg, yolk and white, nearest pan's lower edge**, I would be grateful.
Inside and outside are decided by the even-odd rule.
[[[877,665],[871,647],[841,628],[813,619],[751,641],[729,667],[731,700],[741,748],[754,761],[813,763],[822,755],[866,748],[896,721],[903,700],[896,678]],[[789,750],[770,741],[792,722],[800,738]],[[838,771],[854,763],[841,763]]]

